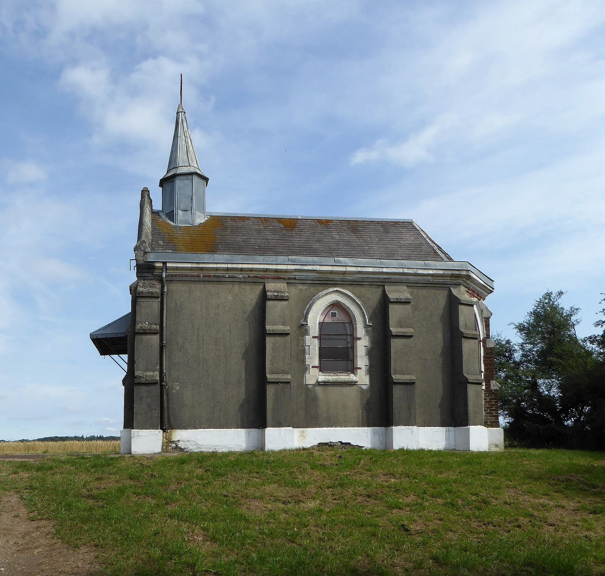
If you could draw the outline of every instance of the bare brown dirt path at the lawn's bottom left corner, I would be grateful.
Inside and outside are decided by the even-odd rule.
[[[0,576],[93,576],[94,552],[74,549],[54,537],[47,520],[29,520],[16,494],[0,498]]]

